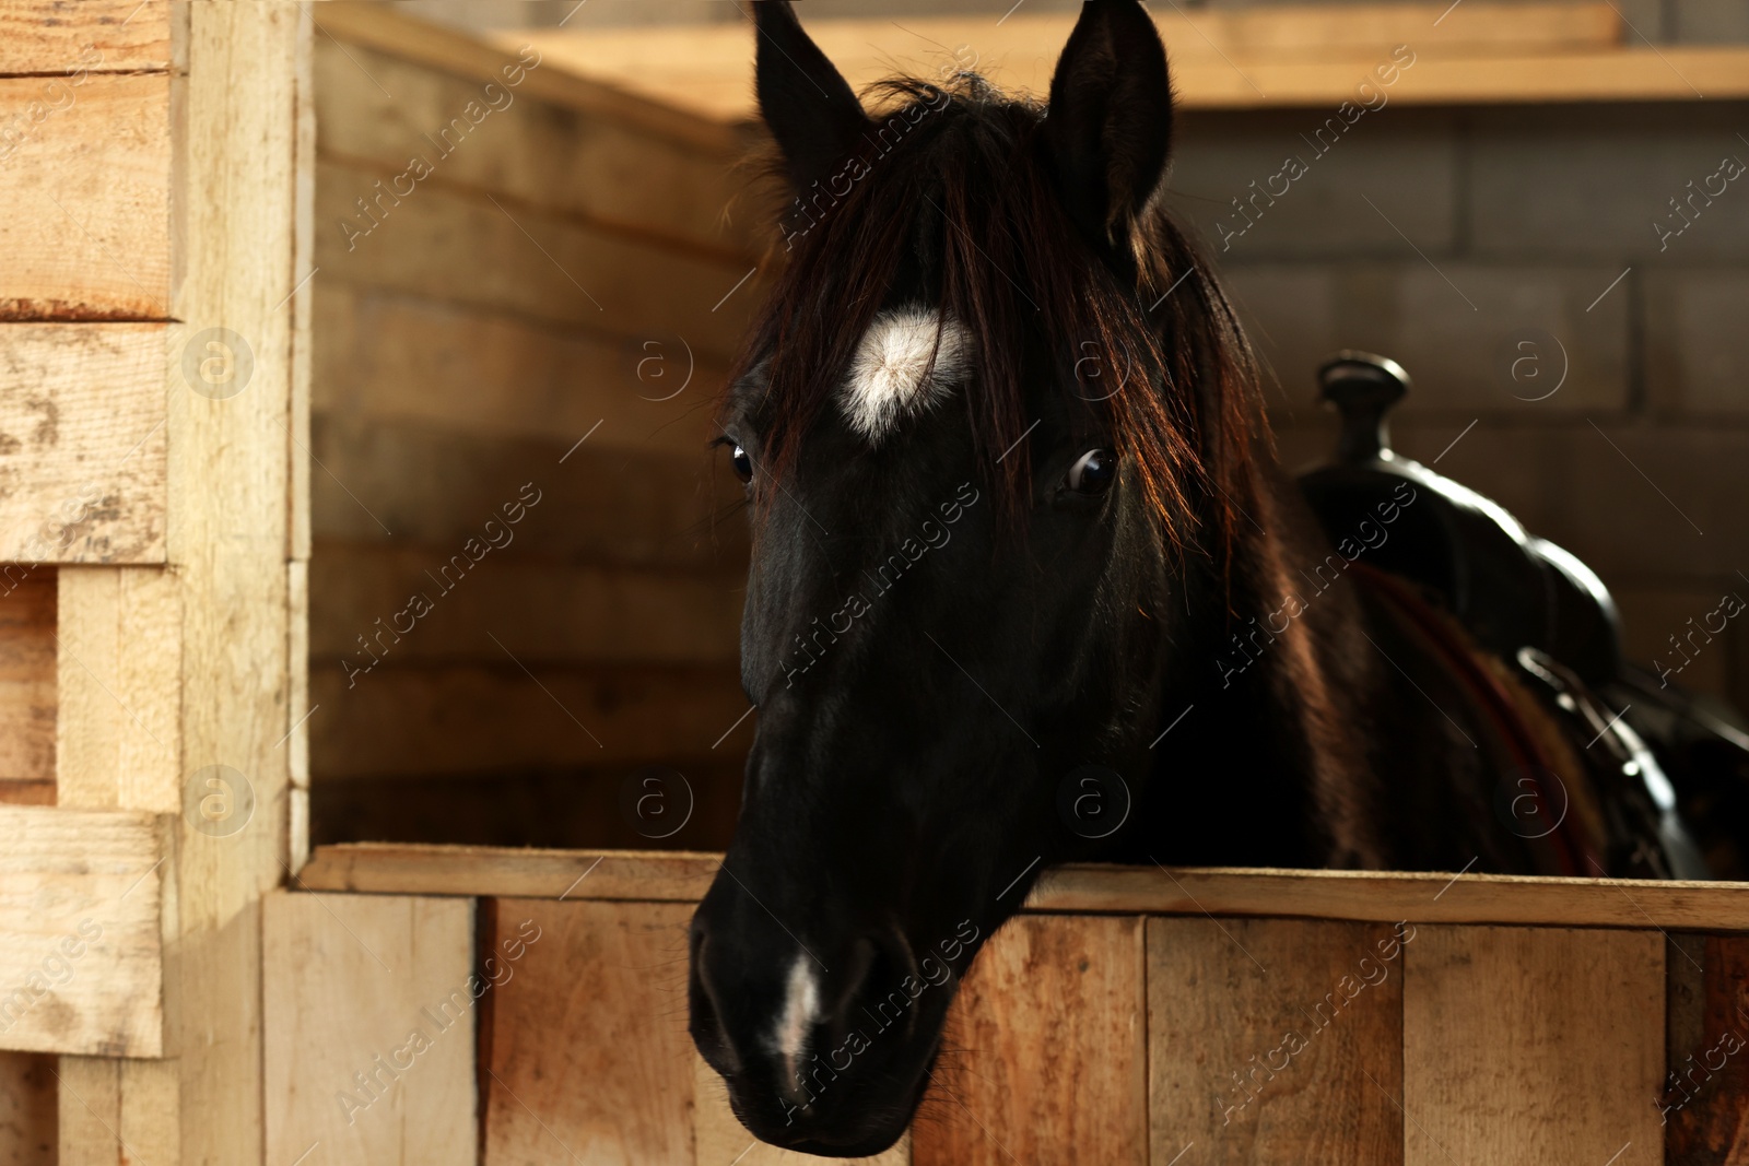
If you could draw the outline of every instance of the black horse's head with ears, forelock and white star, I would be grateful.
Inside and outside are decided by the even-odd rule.
[[[796,203],[721,414],[759,722],[691,1031],[749,1129],[848,1157],[906,1128],[1037,872],[1146,781],[1251,421],[1154,210],[1172,93],[1135,0],[1084,5],[1048,107],[958,75],[871,115],[789,3],[756,24]]]

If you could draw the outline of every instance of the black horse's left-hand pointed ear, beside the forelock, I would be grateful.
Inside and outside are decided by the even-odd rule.
[[[855,149],[868,129],[868,114],[820,45],[803,31],[789,0],[757,0],[754,30],[759,112],[784,152],[789,180],[796,191],[806,191]]]

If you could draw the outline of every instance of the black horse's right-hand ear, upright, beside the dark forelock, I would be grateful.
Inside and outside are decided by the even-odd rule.
[[[1076,222],[1128,253],[1126,233],[1167,170],[1167,49],[1137,0],[1088,0],[1051,77],[1046,143]]]

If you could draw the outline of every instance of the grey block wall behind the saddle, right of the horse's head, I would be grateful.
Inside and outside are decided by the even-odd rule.
[[[1630,650],[1683,664],[1669,638],[1749,598],[1749,103],[1387,103],[1319,154],[1324,117],[1186,115],[1168,192],[1270,365],[1284,462],[1331,449],[1327,353],[1399,360],[1397,448],[1592,563]],[[1674,678],[1749,708],[1749,619]]]

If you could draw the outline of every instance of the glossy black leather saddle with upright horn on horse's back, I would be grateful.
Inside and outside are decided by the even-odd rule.
[[[1300,477],[1331,542],[1354,537],[1378,507],[1401,500],[1390,537],[1366,552],[1380,570],[1434,593],[1476,642],[1504,659],[1536,649],[1585,684],[1623,675],[1621,622],[1602,580],[1578,558],[1532,537],[1499,503],[1390,449],[1387,414],[1410,390],[1394,360],[1343,351],[1319,371],[1341,414],[1336,456]]]

